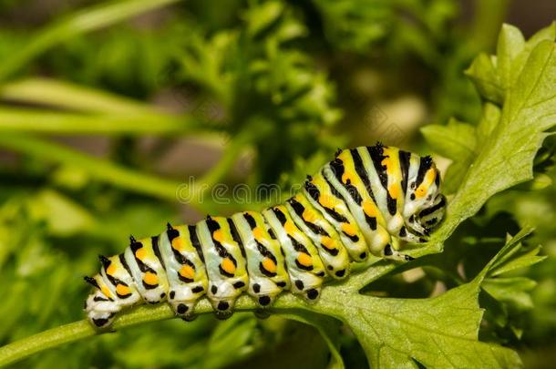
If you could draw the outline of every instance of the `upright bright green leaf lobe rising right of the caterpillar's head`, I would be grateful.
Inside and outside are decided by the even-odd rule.
[[[458,224],[474,215],[492,195],[533,178],[532,162],[535,154],[548,135],[545,131],[556,124],[554,42],[543,39],[532,46],[534,42],[530,40],[518,57],[507,48],[512,45],[521,48],[520,42],[516,41],[513,31],[506,32],[511,35],[504,37],[513,41],[504,41],[504,46],[499,48],[504,52],[503,57],[514,63],[512,68],[520,57],[524,57],[523,53],[529,55],[520,74],[515,76],[515,83],[504,90],[498,124],[496,109],[489,106],[484,109],[479,129],[481,144],[473,153],[458,192],[448,201],[446,221],[432,237],[431,241],[436,247],[441,247],[441,242],[448,238]],[[551,35],[551,32],[541,33],[547,34]],[[499,74],[491,77],[494,80],[496,76],[500,78]]]

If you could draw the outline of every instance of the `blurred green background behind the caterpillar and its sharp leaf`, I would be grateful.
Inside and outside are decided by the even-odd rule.
[[[201,185],[277,184],[285,196],[336,148],[380,139],[430,152],[420,127],[479,117],[463,70],[494,50],[502,22],[530,36],[555,15],[551,0],[0,0],[0,344],[82,319],[82,276],[129,233],[276,200],[228,191],[215,201]],[[536,227],[530,243],[550,256],[525,272],[538,285],[504,312],[510,323],[484,333],[531,368],[556,361],[554,179],[550,162],[532,190],[502,192],[462,231],[468,240]],[[376,288],[438,291],[434,275],[410,277]],[[340,340],[347,367],[366,367],[353,334]],[[328,360],[314,328],[237,313],[144,324],[15,366]]]

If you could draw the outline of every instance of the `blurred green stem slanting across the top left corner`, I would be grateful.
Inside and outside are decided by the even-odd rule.
[[[0,81],[13,75],[31,59],[47,49],[88,31],[116,24],[150,10],[176,3],[179,0],[127,0],[96,5],[70,15],[67,19],[47,26],[31,41],[15,50],[0,63]]]

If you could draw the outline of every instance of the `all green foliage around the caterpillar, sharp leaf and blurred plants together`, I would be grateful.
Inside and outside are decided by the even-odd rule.
[[[529,40],[502,26],[490,56],[503,0],[476,2],[469,24],[453,0],[174,3],[64,5],[37,31],[0,22],[0,147],[18,154],[0,162],[0,364],[520,367],[521,344],[554,344],[554,25]],[[201,213],[260,209],[197,195],[244,181],[286,197],[336,148],[396,128],[409,109],[368,109],[407,95],[437,123],[421,128],[428,147],[451,160],[448,218],[407,245],[417,261],[354,265],[316,304],[285,294],[267,320],[217,323],[206,300],[193,323],[141,306],[92,337],[81,276],[127,234],[182,220],[176,189]],[[400,145],[426,152],[416,128]],[[108,149],[50,134],[106,136]],[[201,149],[160,169],[180,138]],[[207,138],[224,149],[199,176],[188,165]],[[246,152],[254,162],[238,171]],[[255,306],[242,296],[237,308]]]

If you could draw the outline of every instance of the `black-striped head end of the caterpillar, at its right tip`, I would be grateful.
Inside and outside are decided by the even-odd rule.
[[[430,157],[421,158],[408,179],[404,218],[417,234],[427,236],[438,227],[446,212],[446,198],[440,193],[440,172]]]

